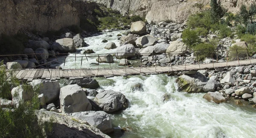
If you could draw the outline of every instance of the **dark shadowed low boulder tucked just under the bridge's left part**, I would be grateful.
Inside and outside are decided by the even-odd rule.
[[[99,88],[99,82],[96,81],[96,79],[93,78],[84,78],[84,79],[75,79],[75,80],[67,80],[64,82],[67,85],[70,84],[78,84],[79,86],[83,88],[88,89],[97,89]]]

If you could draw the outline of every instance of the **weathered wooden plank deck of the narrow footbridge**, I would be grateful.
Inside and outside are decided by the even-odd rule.
[[[83,79],[85,77],[112,77],[112,76],[128,76],[128,75],[148,75],[160,74],[177,71],[204,70],[214,68],[225,68],[244,65],[256,65],[256,59],[240,60],[222,63],[195,64],[195,65],[178,65],[166,67],[134,67],[134,68],[112,68],[112,69],[24,69],[15,70],[13,74],[17,79],[32,81],[33,79]]]

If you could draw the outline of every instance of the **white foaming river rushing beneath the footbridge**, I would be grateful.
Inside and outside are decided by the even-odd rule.
[[[85,38],[96,54],[112,53],[104,49],[102,39],[115,42],[119,31]],[[113,37],[106,37],[112,35]],[[90,62],[96,62],[90,58]],[[84,59],[83,59],[84,60]],[[80,60],[81,61],[81,60]],[[66,68],[76,68],[74,60],[67,60]],[[66,66],[65,65],[65,66]],[[89,64],[84,64],[89,68]],[[231,101],[215,104],[203,99],[204,93],[183,93],[177,91],[175,77],[161,75],[96,78],[100,90],[122,92],[129,100],[129,107],[116,114],[110,114],[114,127],[125,127],[122,135],[112,138],[256,138],[256,109],[251,105],[239,106]],[[143,90],[131,90],[140,83]],[[100,91],[99,90],[99,91]],[[163,101],[169,93],[171,99]]]

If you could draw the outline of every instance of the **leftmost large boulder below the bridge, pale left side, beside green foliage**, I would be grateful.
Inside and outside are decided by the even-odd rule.
[[[33,96],[33,87],[31,85],[20,85],[12,89],[12,101],[18,106],[19,101],[29,101]]]

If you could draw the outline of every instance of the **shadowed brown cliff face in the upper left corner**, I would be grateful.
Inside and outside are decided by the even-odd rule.
[[[96,3],[86,0],[0,0],[0,34],[20,29],[40,32],[80,25],[80,18],[93,20]]]

